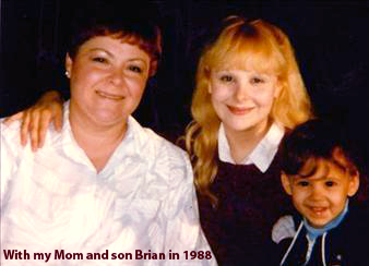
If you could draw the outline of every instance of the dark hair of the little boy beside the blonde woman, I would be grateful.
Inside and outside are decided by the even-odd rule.
[[[333,153],[336,148],[340,148],[348,164],[354,166],[347,137],[342,126],[332,121],[309,120],[289,132],[281,145],[282,171],[287,176],[298,174],[305,162],[311,158],[326,159],[346,168],[347,166],[335,160]],[[310,177],[316,170],[317,165],[311,168],[311,172],[303,176]]]

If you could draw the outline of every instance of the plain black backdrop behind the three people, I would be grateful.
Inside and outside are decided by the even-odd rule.
[[[29,106],[47,88],[68,97],[62,47],[70,21],[106,5],[123,14],[132,3],[142,17],[158,19],[164,32],[158,74],[135,113],[142,124],[169,140],[179,136],[190,121],[200,48],[214,24],[229,14],[262,17],[288,34],[316,114],[349,131],[358,164],[368,171],[369,1],[1,0],[1,117]]]

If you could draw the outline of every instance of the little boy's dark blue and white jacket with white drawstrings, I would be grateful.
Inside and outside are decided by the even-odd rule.
[[[272,239],[278,265],[369,265],[369,208],[352,207],[338,226],[309,241],[303,218],[284,216]]]

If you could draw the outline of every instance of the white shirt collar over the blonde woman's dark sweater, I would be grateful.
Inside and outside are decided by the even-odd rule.
[[[265,172],[271,166],[278,145],[284,136],[285,130],[273,123],[265,136],[259,142],[254,149],[239,165],[255,165],[261,172]],[[236,165],[230,155],[229,143],[223,123],[218,131],[218,156],[222,161]]]

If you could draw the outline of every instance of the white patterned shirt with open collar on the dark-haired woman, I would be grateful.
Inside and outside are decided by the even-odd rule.
[[[193,265],[191,251],[211,251],[183,150],[130,117],[123,141],[97,173],[68,118],[67,102],[62,132],[50,128],[37,153],[20,145],[19,122],[1,123],[4,265],[45,265],[33,259],[40,252],[51,253],[47,265]],[[31,259],[5,259],[3,250],[26,250]],[[84,261],[55,259],[56,250],[81,253]],[[148,250],[166,259],[134,261],[136,251]],[[110,259],[86,259],[88,253],[106,252]],[[180,259],[169,259],[169,252]],[[119,253],[131,253],[133,261],[119,259]],[[198,264],[216,265],[211,256]]]

